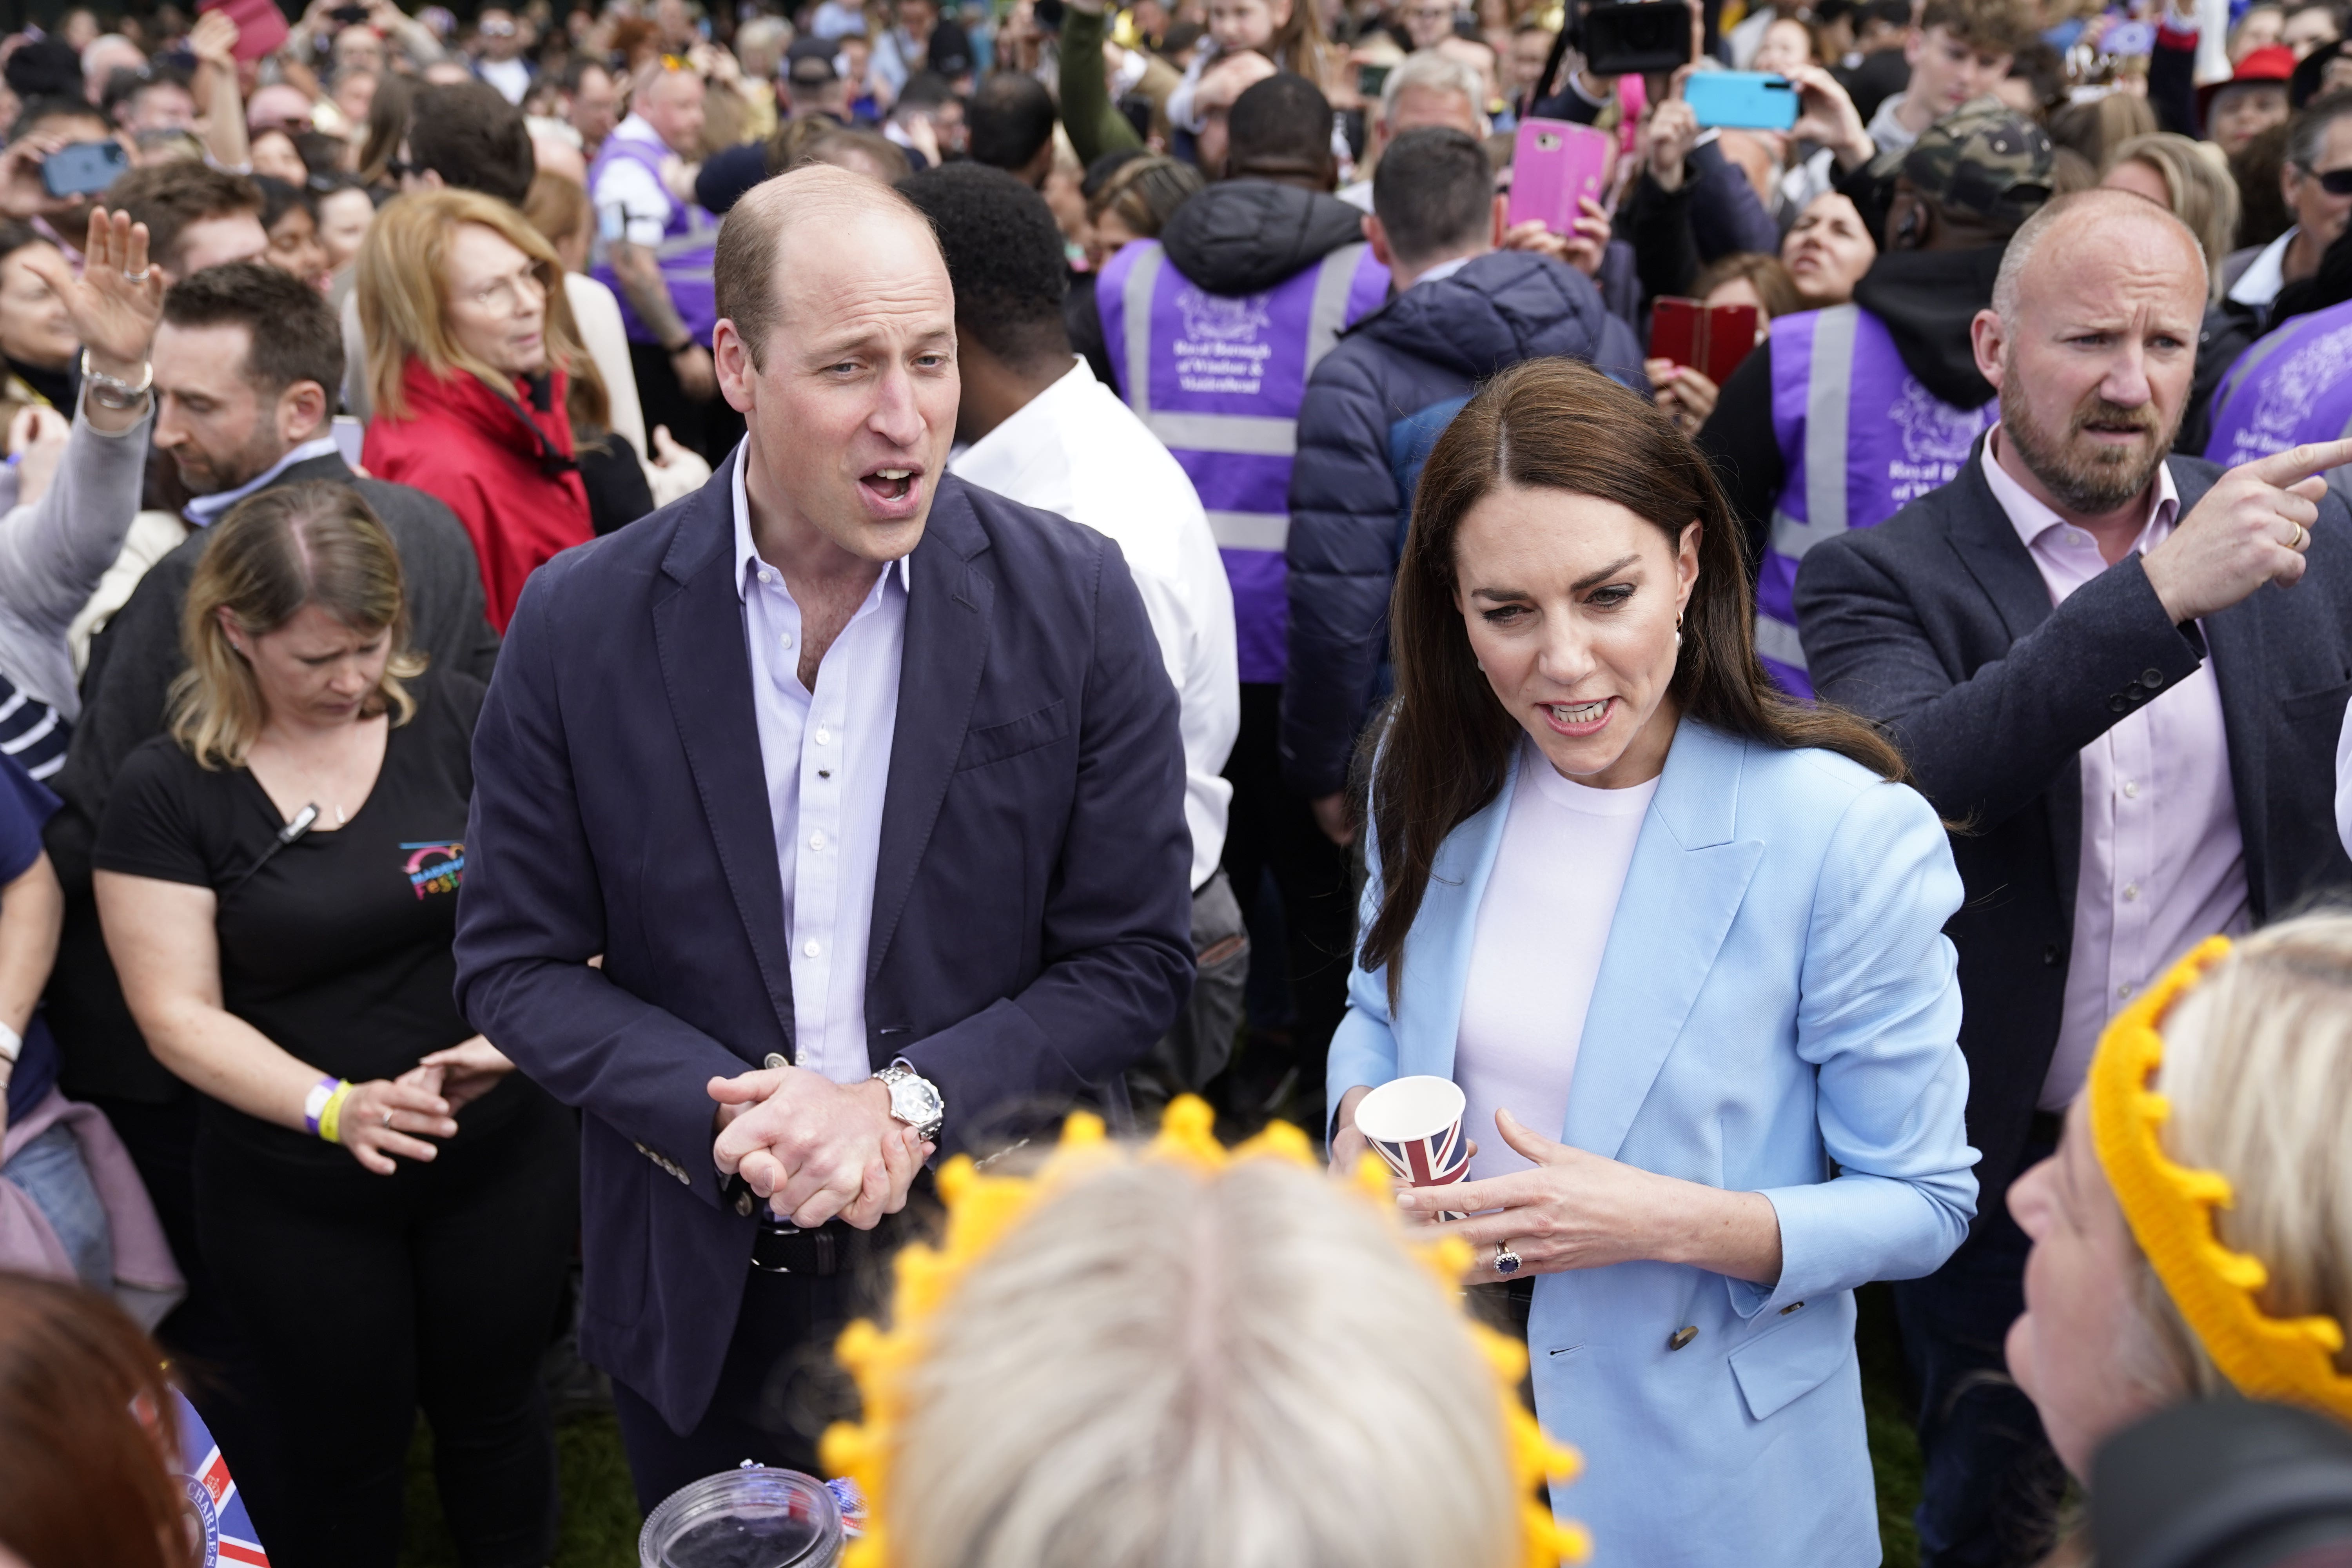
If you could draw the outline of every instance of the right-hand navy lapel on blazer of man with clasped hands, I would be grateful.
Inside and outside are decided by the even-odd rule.
[[[898,729],[882,795],[882,853],[875,860],[875,922],[866,980],[882,973],[915,867],[931,842],[948,776],[964,750],[971,703],[988,663],[995,583],[978,569],[988,534],[971,515],[962,480],[941,480],[922,543],[908,557],[906,656],[898,665]]]

